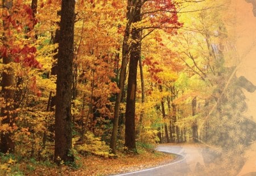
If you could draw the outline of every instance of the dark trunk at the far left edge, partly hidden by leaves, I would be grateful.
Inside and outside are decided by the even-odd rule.
[[[13,6],[12,0],[3,0],[2,1],[3,6],[6,8],[11,9]],[[4,7],[1,7],[4,8]],[[8,47],[6,45],[5,37],[3,38],[3,45]],[[1,109],[1,117],[5,117],[2,119],[2,124],[8,124],[10,127],[13,126],[14,123],[14,117],[11,117],[11,112],[14,109],[14,87],[15,87],[15,77],[14,77],[14,70],[9,65],[11,62],[13,62],[13,59],[10,57],[3,57],[3,64],[6,65],[6,71],[2,72],[2,81],[1,81],[1,96],[4,98],[6,104],[5,107]],[[1,132],[0,134],[0,152],[6,153],[6,152],[13,152],[14,151],[14,141],[11,139],[11,132],[5,131]]]

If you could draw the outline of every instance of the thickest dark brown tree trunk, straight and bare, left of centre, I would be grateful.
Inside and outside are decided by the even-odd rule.
[[[57,60],[55,109],[55,162],[73,161],[72,149],[72,68],[75,0],[61,2],[60,41]]]

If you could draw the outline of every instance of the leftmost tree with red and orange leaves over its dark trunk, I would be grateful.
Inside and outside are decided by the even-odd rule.
[[[3,29],[1,57],[3,58],[2,80],[1,80],[1,97],[3,104],[1,107],[1,123],[3,125],[1,132],[1,151],[10,152],[14,151],[13,134],[15,133],[17,113],[15,109],[19,108],[22,98],[20,98],[19,85],[22,82],[19,77],[24,75],[23,72],[16,68],[40,68],[35,59],[36,48],[32,46],[32,42],[26,40],[26,37],[32,36],[31,30],[37,23],[33,17],[32,9],[29,5],[22,2],[3,1],[2,6]],[[30,28],[31,30],[26,30]],[[24,35],[26,37],[24,37]],[[18,80],[17,80],[18,78]],[[34,85],[32,91],[38,91]]]

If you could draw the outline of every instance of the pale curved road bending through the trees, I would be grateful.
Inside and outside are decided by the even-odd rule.
[[[209,164],[215,158],[212,149],[204,145],[159,145],[157,151],[174,153],[176,159],[170,164],[157,166],[155,168],[133,171],[131,173],[119,174],[119,176],[130,175],[224,175],[222,171],[217,171],[217,165],[209,169]],[[207,165],[207,167],[205,167]],[[225,175],[228,176],[228,175]]]

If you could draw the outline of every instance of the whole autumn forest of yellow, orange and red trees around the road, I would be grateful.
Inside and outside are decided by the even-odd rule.
[[[165,143],[221,151],[226,175],[245,163],[256,87],[236,75],[232,0],[0,6],[0,175],[117,174],[94,165],[172,160]]]

